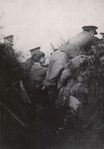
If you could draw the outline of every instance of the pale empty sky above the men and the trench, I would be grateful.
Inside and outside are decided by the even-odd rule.
[[[0,34],[13,34],[18,50],[41,46],[48,52],[84,25],[103,32],[104,0],[0,0],[0,22]]]

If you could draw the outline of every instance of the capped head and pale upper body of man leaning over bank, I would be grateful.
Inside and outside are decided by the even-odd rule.
[[[83,31],[70,39],[70,43],[61,47],[60,50],[65,52],[68,57],[73,58],[77,55],[88,54],[89,49],[98,40],[94,35],[97,34],[96,26],[83,26]]]

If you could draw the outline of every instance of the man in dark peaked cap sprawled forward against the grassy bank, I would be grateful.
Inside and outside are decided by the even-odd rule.
[[[59,48],[50,58],[45,86],[54,87],[65,68],[66,63],[77,55],[85,55],[98,40],[96,26],[84,26],[83,31],[70,39],[70,43]]]

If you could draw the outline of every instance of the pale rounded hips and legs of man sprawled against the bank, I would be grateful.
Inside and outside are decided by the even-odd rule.
[[[67,63],[67,55],[64,52],[56,51],[50,58],[50,63],[46,75],[45,86],[54,86],[58,77]]]

